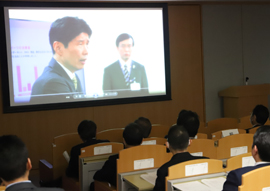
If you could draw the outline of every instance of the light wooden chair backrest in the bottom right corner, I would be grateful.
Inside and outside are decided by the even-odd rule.
[[[270,166],[261,167],[242,175],[242,185],[239,191],[266,191],[270,188]]]

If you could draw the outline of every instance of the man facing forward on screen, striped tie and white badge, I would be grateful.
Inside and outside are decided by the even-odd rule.
[[[118,96],[148,95],[148,81],[143,65],[131,59],[134,47],[133,37],[127,33],[116,39],[120,58],[104,69],[103,91]]]

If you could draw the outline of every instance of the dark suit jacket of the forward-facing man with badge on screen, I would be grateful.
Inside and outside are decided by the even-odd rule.
[[[125,77],[118,60],[104,69],[103,91],[106,93],[106,91],[113,90],[113,92],[118,92],[119,96],[148,94],[148,81],[143,65],[132,61],[129,79],[131,81],[136,81],[136,83],[140,83],[141,88],[144,89],[142,89],[141,91],[130,90],[130,84],[126,84]]]

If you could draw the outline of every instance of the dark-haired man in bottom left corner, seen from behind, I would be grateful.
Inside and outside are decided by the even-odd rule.
[[[6,191],[64,191],[60,188],[38,188],[28,179],[32,168],[25,144],[15,135],[0,137],[0,178]]]

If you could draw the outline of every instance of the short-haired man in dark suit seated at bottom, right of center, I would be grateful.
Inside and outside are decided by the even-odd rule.
[[[168,168],[170,166],[189,160],[207,158],[192,156],[189,152],[187,152],[189,143],[188,132],[183,126],[173,125],[170,128],[166,146],[172,152],[173,157],[169,162],[165,163],[158,169],[154,191],[165,191],[165,177],[168,176]]]

